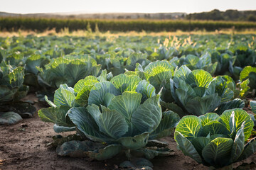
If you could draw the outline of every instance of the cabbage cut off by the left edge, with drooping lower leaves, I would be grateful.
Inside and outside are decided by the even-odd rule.
[[[10,64],[0,64],[0,125],[14,124],[21,117],[33,115],[36,108],[30,103],[20,101],[28,93],[28,86],[23,85],[23,67],[12,67]]]

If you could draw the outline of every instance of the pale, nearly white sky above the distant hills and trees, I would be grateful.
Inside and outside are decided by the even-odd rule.
[[[9,13],[195,13],[218,8],[256,10],[256,0],[0,0]]]

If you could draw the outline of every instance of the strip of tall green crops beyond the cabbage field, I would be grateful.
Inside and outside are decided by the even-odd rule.
[[[171,20],[97,20],[97,19],[60,19],[60,18],[0,18],[0,30],[51,30],[57,32],[63,28],[70,31],[90,28],[95,31],[98,27],[100,31],[190,31],[207,30],[214,31],[220,29],[244,30],[255,29],[256,23],[236,22],[236,21],[171,21]],[[97,29],[97,28],[96,28]]]

